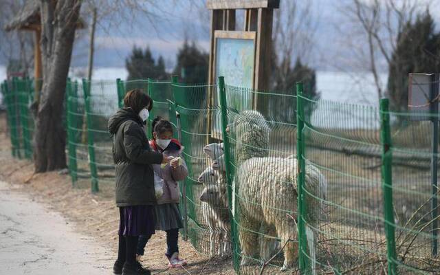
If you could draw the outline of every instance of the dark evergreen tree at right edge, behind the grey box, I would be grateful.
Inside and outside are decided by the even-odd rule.
[[[388,73],[387,95],[396,111],[408,108],[408,74],[440,71],[440,32],[429,12],[408,22],[397,36]]]

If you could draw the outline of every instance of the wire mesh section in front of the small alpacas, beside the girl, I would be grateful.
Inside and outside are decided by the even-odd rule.
[[[223,206],[225,194],[217,184],[221,180],[220,171],[212,168],[214,152],[206,153],[206,146],[217,144],[219,140],[219,136],[210,131],[212,120],[219,121],[219,109],[212,107],[207,96],[217,85],[186,85],[174,81],[172,89],[174,106],[171,108],[177,114],[189,174],[181,185],[181,193],[185,195],[181,206],[187,215],[186,234],[199,252],[224,256],[230,254],[230,239],[221,221],[228,208]]]

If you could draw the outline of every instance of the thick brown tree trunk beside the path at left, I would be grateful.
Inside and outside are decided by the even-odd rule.
[[[80,5],[80,0],[40,2],[43,89],[35,122],[36,173],[67,167],[63,103]]]

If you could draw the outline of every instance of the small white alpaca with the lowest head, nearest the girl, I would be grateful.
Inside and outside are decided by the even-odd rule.
[[[214,256],[214,244],[216,235],[219,239],[218,256],[230,254],[230,219],[228,199],[226,197],[226,184],[208,183],[200,195],[200,200],[206,203],[206,211],[203,217],[210,229],[210,256]]]

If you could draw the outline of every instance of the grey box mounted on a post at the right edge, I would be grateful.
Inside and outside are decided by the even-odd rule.
[[[430,102],[437,97],[438,85],[439,83],[436,83],[434,74],[409,75],[408,110],[411,113],[419,113],[419,115],[411,115],[411,120],[430,120],[430,115],[426,114],[432,110]],[[434,104],[439,104],[439,102],[435,101]]]

